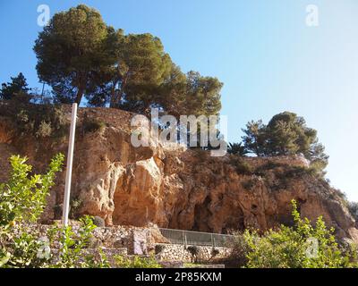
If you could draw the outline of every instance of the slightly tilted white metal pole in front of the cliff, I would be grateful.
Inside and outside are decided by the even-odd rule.
[[[69,213],[69,208],[70,208],[73,147],[74,147],[74,136],[75,136],[75,131],[76,131],[76,119],[77,119],[77,104],[73,104],[72,105],[71,128],[70,128],[70,139],[68,142],[66,181],[64,183],[64,211],[62,214],[62,223],[64,224],[64,226],[67,226],[67,224],[68,224],[68,213]]]

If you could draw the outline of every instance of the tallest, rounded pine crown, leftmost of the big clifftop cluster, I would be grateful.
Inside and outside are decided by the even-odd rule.
[[[55,13],[36,40],[37,71],[61,103],[81,102],[88,94],[107,56],[104,45],[108,28],[94,9],[80,4]]]

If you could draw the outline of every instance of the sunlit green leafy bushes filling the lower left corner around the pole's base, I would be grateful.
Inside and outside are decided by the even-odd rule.
[[[81,219],[77,231],[72,226],[50,227],[40,235],[36,223],[46,205],[55,172],[64,161],[56,155],[45,174],[30,175],[26,158],[12,156],[10,180],[0,185],[0,267],[107,267],[107,258],[86,255],[94,225],[90,216]],[[51,248],[58,249],[51,251]]]

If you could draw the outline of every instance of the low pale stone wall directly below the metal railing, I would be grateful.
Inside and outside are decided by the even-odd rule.
[[[183,246],[181,244],[167,244],[167,243],[157,243],[158,246],[163,246],[163,249],[160,253],[157,254],[159,260],[168,260],[168,261],[183,261],[183,262],[192,262],[192,254],[187,250],[190,246]],[[212,248],[206,246],[197,246],[199,248],[198,262],[208,262],[215,260],[217,258],[228,257],[230,255],[230,248]],[[217,254],[213,256],[213,250]]]

